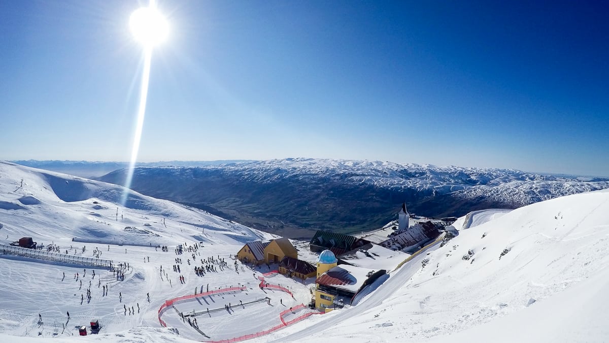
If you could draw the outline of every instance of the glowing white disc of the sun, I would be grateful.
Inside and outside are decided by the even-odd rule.
[[[140,7],[133,11],[129,27],[135,39],[146,48],[160,45],[169,34],[167,20],[156,7]]]

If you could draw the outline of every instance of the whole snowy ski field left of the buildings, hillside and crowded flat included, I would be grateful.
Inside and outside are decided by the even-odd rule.
[[[180,337],[160,329],[161,304],[192,294],[194,289],[200,293],[247,285],[247,291],[240,294],[244,305],[248,303],[244,310],[222,311],[225,298],[226,305],[238,300],[217,295],[205,300],[211,302],[205,307],[215,310],[213,318],[199,317],[210,337],[233,338],[231,328],[248,319],[244,312],[268,306],[252,300],[270,297],[273,303],[283,300],[285,306],[296,306],[310,297],[305,284],[292,280],[281,283],[290,287],[294,297],[285,292],[265,294],[255,287],[259,271],[233,261],[244,242],[274,236],[139,193],[132,193],[122,206],[122,191],[122,187],[104,182],[0,162],[0,243],[32,236],[39,244],[53,244],[63,256],[48,259],[38,252],[40,258],[32,258],[0,250],[0,342],[29,342],[33,337],[60,342],[200,340],[203,336],[179,319],[174,322],[181,325]],[[182,254],[177,250],[180,245],[184,245]],[[119,265],[124,277],[119,280],[113,270],[74,262],[97,256]],[[195,266],[213,266],[214,270],[197,275]],[[88,292],[91,298],[85,296]],[[192,302],[175,306],[188,306],[183,311],[192,306],[205,308],[203,300],[201,305]],[[252,333],[256,325],[264,329],[276,325],[283,307],[273,309],[277,313],[267,314],[268,322],[252,320],[252,326],[241,325],[241,330]],[[165,320],[169,322],[172,316],[177,317],[173,309]],[[99,319],[100,335],[78,337],[75,327],[87,325],[91,319]]]

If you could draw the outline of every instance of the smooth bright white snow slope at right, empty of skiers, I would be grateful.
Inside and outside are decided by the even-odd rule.
[[[379,287],[384,300],[373,294],[351,313],[334,311],[313,319],[314,327],[306,328],[314,324],[311,320],[286,329],[294,334],[275,338],[607,341],[607,213],[608,190],[516,209],[415,256]],[[395,288],[404,278],[407,282]],[[326,327],[334,317],[342,320]]]

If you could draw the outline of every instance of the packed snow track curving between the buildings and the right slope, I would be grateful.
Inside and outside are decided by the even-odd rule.
[[[299,325],[309,325],[308,327],[289,334],[288,336],[277,337],[278,335],[281,335],[281,331],[278,331],[278,333],[271,334],[273,338],[277,338],[270,342],[294,342],[298,339],[311,339],[312,333],[319,333],[324,330],[331,329],[336,325],[340,325],[343,320],[358,316],[369,309],[373,309],[376,306],[381,305],[385,299],[403,287],[404,284],[406,284],[410,278],[412,278],[412,276],[414,276],[415,273],[421,269],[421,261],[426,258],[426,253],[440,247],[440,243],[441,242],[436,242],[435,244],[431,245],[431,247],[425,248],[423,251],[418,253],[417,256],[414,256],[414,258],[405,263],[396,272],[391,273],[384,284],[379,286],[378,289],[376,289],[376,291],[373,292],[369,297],[360,301],[357,306],[353,306],[349,309],[338,309],[329,312],[328,314],[324,314],[320,318],[317,318],[320,321],[315,323],[315,325],[311,325],[310,321],[305,321]]]

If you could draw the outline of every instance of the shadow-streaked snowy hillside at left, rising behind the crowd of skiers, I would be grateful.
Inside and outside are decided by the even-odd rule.
[[[0,239],[38,244],[76,237],[101,243],[250,242],[271,237],[223,218],[123,187],[0,162]],[[205,232],[206,235],[202,236]]]

